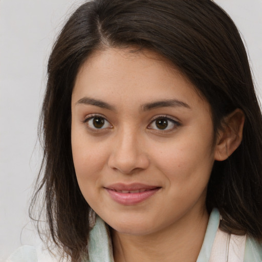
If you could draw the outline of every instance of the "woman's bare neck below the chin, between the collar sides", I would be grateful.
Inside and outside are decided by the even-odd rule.
[[[183,216],[176,223],[149,235],[128,235],[112,230],[114,260],[195,262],[204,241],[207,224],[208,213],[202,210]]]

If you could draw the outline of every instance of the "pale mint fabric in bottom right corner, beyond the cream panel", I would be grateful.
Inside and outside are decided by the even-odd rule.
[[[245,247],[245,262],[261,262],[262,261],[262,243],[255,241],[251,237],[247,237]]]

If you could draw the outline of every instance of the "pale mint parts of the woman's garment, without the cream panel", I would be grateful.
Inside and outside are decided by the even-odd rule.
[[[207,231],[197,262],[208,262],[219,223],[220,213],[217,209],[214,209],[209,217]],[[100,217],[97,217],[96,224],[90,232],[88,250],[89,260],[86,259],[83,262],[114,262],[107,228]],[[58,260],[39,247],[23,246],[14,252],[6,262],[57,262]],[[262,262],[262,245],[249,237],[246,241],[244,262]]]

